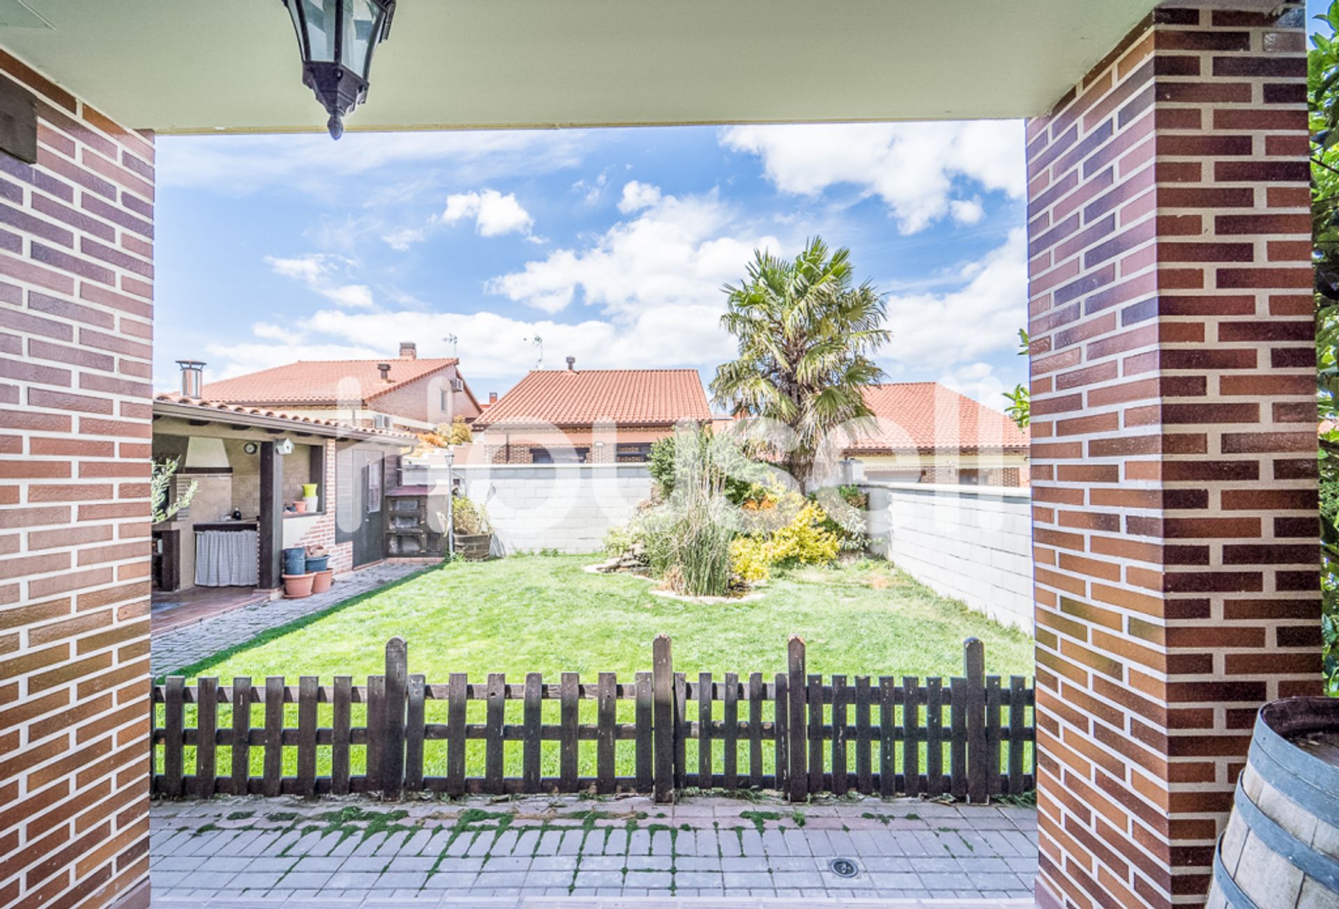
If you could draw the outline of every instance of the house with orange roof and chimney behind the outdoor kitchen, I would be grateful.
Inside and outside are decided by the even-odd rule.
[[[399,355],[386,360],[299,360],[210,382],[201,396],[410,432],[431,431],[457,416],[473,422],[481,412],[459,361],[419,359],[414,341],[402,341]]]

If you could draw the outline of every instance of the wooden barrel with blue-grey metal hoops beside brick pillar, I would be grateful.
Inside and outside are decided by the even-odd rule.
[[[1256,718],[1208,909],[1339,905],[1339,699],[1288,697]]]

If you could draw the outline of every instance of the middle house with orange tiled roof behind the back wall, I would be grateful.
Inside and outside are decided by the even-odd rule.
[[[640,463],[683,423],[711,422],[696,369],[532,369],[474,422],[477,463]]]

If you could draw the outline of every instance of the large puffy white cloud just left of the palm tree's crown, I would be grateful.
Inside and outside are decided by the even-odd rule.
[[[716,197],[664,195],[636,218],[615,224],[586,249],[557,249],[486,289],[544,312],[560,312],[580,289],[588,305],[616,319],[664,307],[724,311],[724,281],[740,280],[754,249],[785,252],[777,237],[738,224]]]

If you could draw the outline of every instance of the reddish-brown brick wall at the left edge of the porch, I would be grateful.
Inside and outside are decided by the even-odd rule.
[[[98,906],[149,869],[154,146],[0,71],[0,905]]]

